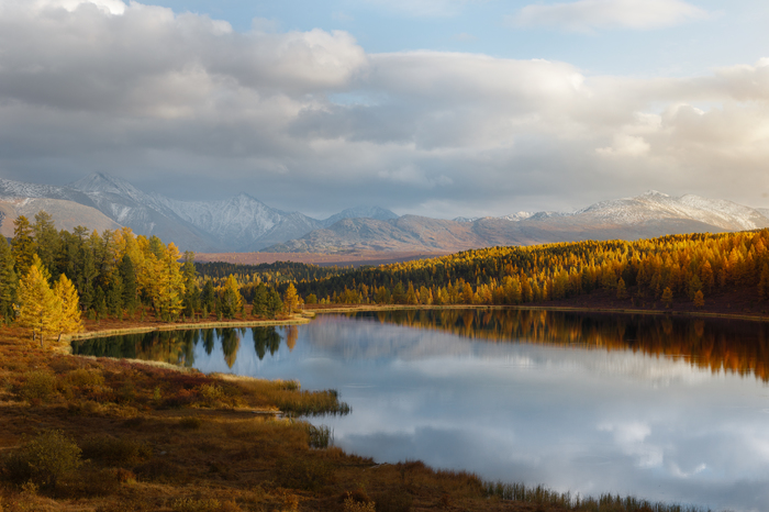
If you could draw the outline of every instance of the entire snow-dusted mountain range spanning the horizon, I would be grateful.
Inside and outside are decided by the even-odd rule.
[[[517,212],[501,218],[438,220],[358,207],[317,220],[277,210],[246,193],[223,201],[180,201],[143,192],[101,172],[66,187],[0,179],[1,234],[12,236],[12,219],[23,214],[32,220],[40,210],[51,213],[58,229],[86,225],[102,231],[123,225],[136,234],[174,242],[182,251],[203,253],[455,252],[769,227],[766,209],[657,191],[602,201],[569,213]]]

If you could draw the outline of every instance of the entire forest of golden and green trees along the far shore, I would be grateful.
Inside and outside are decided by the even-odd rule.
[[[0,238],[0,319],[41,335],[75,332],[81,315],[166,322],[307,304],[546,304],[601,292],[633,303],[694,308],[726,291],[769,296],[769,230],[670,235],[635,242],[489,247],[380,267],[291,261],[196,264],[157,236],[130,229],[57,231],[44,211]],[[247,308],[250,305],[250,308]]]

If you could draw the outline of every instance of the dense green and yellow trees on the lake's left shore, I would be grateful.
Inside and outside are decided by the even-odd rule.
[[[293,310],[299,299],[289,288],[286,307]],[[165,321],[232,319],[245,314],[241,290],[235,276],[214,282],[197,271],[193,253],[182,256],[174,243],[134,235],[129,227],[57,231],[41,211],[33,223],[15,219],[10,244],[0,237],[0,319],[37,333],[78,331],[81,314],[99,320],[152,311]],[[254,283],[249,291],[252,315],[275,318],[283,310],[271,283]]]

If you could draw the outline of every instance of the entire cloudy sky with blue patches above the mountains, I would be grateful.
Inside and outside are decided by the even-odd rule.
[[[765,0],[0,0],[0,177],[325,216],[769,207]]]

